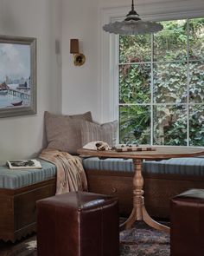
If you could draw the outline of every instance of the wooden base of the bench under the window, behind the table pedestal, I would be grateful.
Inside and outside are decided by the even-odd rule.
[[[121,215],[132,209],[133,173],[87,170],[89,191],[118,197]],[[169,219],[169,200],[190,188],[204,188],[204,178],[181,174],[143,174],[145,207],[150,216]]]

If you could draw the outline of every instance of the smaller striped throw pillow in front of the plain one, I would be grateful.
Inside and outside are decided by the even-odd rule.
[[[84,121],[81,124],[82,146],[92,141],[104,141],[110,147],[116,144],[118,121],[97,124],[90,121]]]

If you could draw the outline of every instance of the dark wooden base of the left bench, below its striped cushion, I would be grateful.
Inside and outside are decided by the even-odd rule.
[[[0,240],[20,240],[36,231],[36,200],[55,194],[55,178],[18,189],[0,188]]]

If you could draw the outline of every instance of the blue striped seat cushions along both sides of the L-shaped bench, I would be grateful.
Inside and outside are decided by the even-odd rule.
[[[52,179],[56,167],[48,161],[41,161],[41,169],[10,169],[0,166],[0,188],[26,187],[41,181]],[[100,160],[97,157],[83,159],[85,169],[98,171],[133,172],[131,159],[108,158]],[[147,174],[182,174],[204,176],[204,158],[174,158],[163,161],[143,162],[143,173]]]

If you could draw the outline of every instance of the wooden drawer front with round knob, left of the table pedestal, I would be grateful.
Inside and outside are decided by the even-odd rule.
[[[132,178],[124,176],[87,176],[89,191],[118,197],[120,214],[129,214],[132,209]]]

